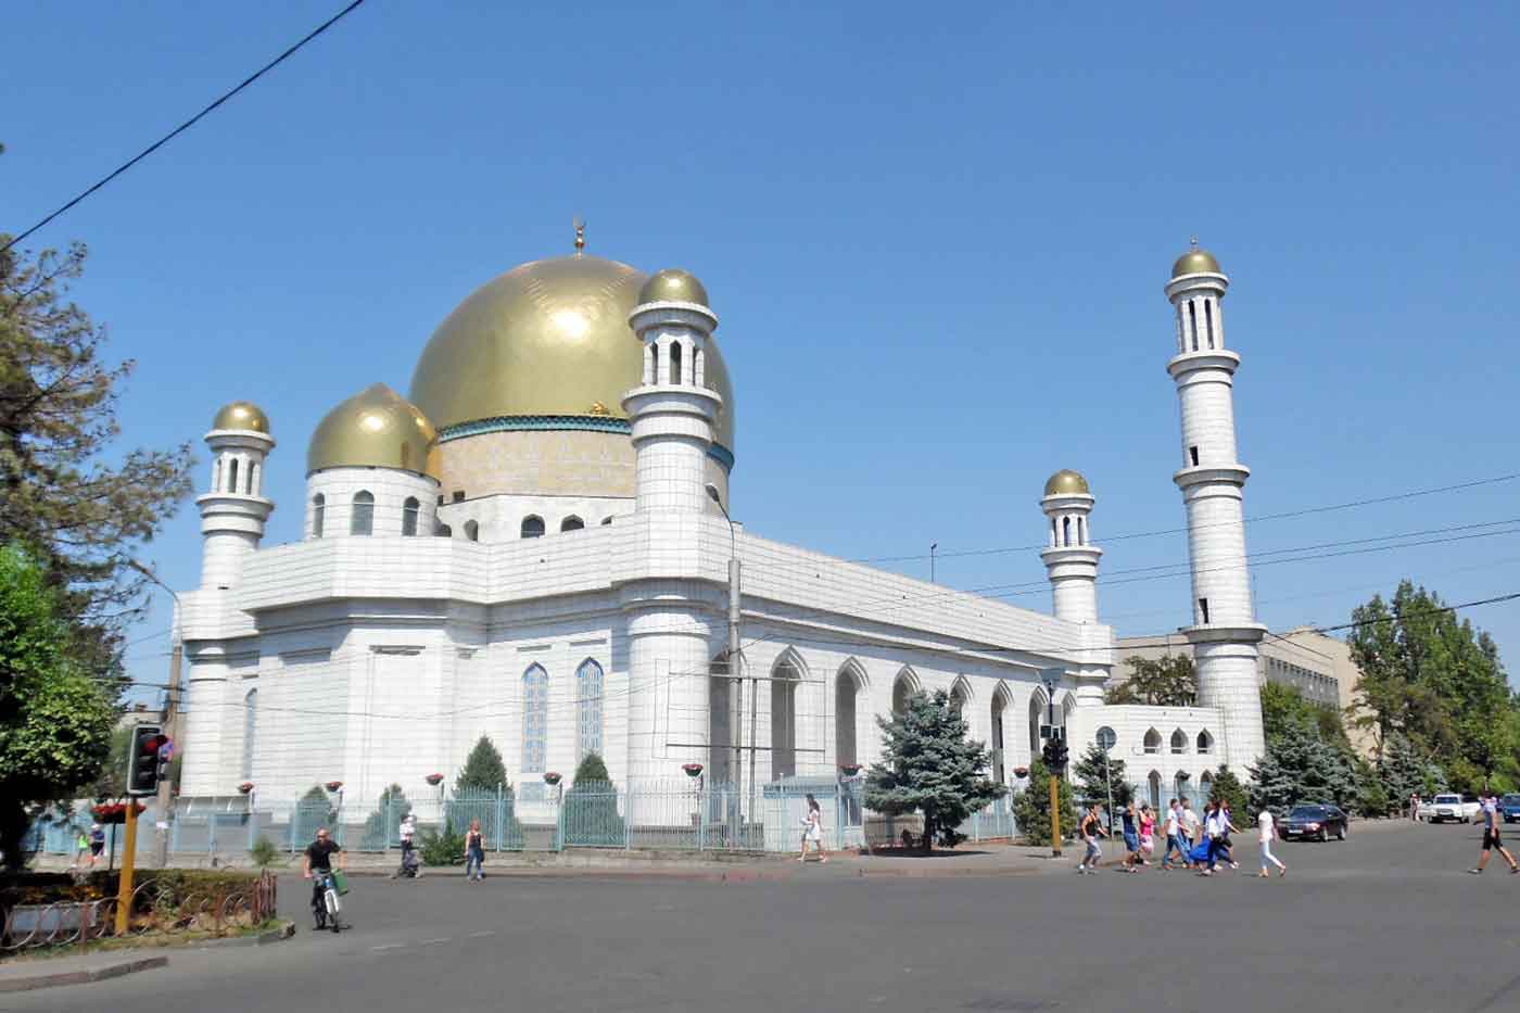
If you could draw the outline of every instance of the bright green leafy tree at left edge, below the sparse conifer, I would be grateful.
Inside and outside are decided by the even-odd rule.
[[[100,773],[116,694],[74,657],[61,593],[17,546],[0,548],[0,849],[20,865],[29,811]]]

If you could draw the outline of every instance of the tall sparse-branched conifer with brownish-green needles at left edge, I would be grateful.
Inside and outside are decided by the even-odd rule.
[[[193,458],[188,443],[116,446],[134,364],[108,364],[105,329],[67,301],[84,260],[82,245],[0,252],[0,541],[41,560],[74,659],[119,677],[122,630],[144,601],[129,560],[190,493]]]

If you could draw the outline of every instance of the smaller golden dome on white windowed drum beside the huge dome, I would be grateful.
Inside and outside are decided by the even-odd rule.
[[[354,394],[327,414],[306,452],[307,475],[322,468],[377,467],[438,478],[438,432],[427,415],[385,383]]]

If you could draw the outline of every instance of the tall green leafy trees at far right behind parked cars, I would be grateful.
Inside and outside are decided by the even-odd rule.
[[[1373,732],[1379,756],[1403,736],[1462,791],[1502,788],[1520,774],[1517,707],[1487,633],[1408,580],[1392,599],[1374,596],[1351,619],[1357,724]]]

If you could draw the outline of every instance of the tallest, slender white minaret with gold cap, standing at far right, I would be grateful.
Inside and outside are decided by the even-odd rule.
[[[1183,468],[1172,476],[1187,506],[1193,622],[1183,630],[1198,665],[1198,703],[1224,718],[1225,761],[1245,773],[1266,750],[1257,643],[1266,627],[1251,605],[1245,554],[1245,481],[1234,432],[1234,373],[1221,303],[1230,278],[1193,248],[1172,265],[1166,297],[1176,307],[1176,356],[1167,373],[1183,411]]]

